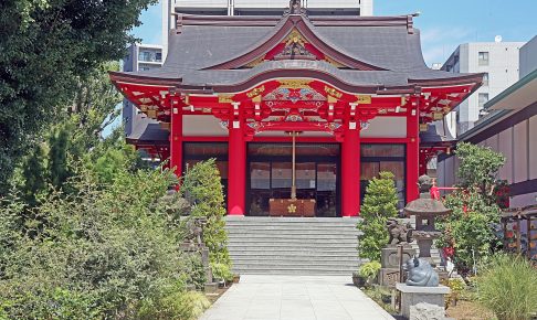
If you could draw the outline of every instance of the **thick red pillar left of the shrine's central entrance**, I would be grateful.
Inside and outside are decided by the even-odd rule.
[[[240,105],[233,104],[233,117],[229,129],[229,174],[228,174],[228,214],[244,215],[246,193],[246,142],[240,117]]]

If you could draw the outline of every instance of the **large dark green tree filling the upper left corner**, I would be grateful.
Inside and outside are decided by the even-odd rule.
[[[156,0],[6,0],[0,10],[0,194],[28,143],[67,114],[88,74],[125,55]]]

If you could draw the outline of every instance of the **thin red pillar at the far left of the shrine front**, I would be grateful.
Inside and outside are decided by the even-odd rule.
[[[176,104],[176,97],[171,96],[169,102],[171,108],[169,167],[179,178],[182,173],[182,110],[180,105]]]

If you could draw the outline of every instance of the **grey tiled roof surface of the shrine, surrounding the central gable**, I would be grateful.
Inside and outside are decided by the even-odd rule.
[[[274,18],[264,18],[266,21],[262,22],[256,22],[253,17],[211,18],[214,22],[207,17],[190,17],[191,22],[185,19],[179,29],[172,31],[168,57],[161,68],[126,74],[162,79],[181,78],[185,85],[202,86],[239,84],[261,73],[285,68],[317,70],[351,85],[406,86],[409,85],[408,79],[461,76],[427,67],[421,52],[420,32],[417,29],[409,30],[411,24],[402,23],[403,18],[407,19],[303,19],[325,44],[356,61],[385,71],[344,70],[323,61],[298,60],[265,62],[245,70],[207,70],[255,50],[274,36],[288,17],[278,22]]]

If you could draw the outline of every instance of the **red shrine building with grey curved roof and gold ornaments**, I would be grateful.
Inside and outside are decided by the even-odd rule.
[[[449,152],[442,120],[483,79],[429,68],[413,15],[180,14],[161,68],[113,72],[148,119],[127,137],[177,174],[214,158],[230,215],[357,216],[368,181],[400,207]],[[152,120],[151,120],[152,119]]]

